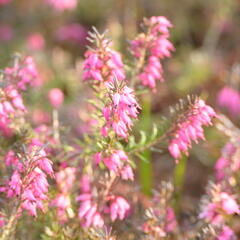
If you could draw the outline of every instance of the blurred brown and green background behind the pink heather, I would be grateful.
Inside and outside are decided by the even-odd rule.
[[[65,94],[60,109],[60,122],[66,134],[63,137],[81,138],[88,129],[84,101],[90,94],[81,79],[87,32],[91,26],[100,32],[108,29],[114,47],[125,53],[123,59],[127,63],[126,39],[133,39],[140,31],[144,16],[154,15],[166,16],[173,23],[171,41],[176,51],[164,61],[166,81],[158,83],[158,91],[150,99],[152,115],[143,114],[138,124],[147,129],[167,114],[169,106],[179,98],[197,94],[239,126],[240,112],[232,116],[216,103],[217,94],[225,85],[239,89],[239,0],[79,0],[75,10],[64,12],[55,11],[44,0],[12,0],[0,6],[0,67],[11,64],[14,53],[35,58],[43,81],[24,96],[33,125],[51,123],[47,93],[58,87]],[[64,32],[69,26],[73,27],[72,32]],[[34,47],[31,37],[39,34],[43,41]],[[226,142],[214,128],[207,129],[206,138],[208,141],[194,145],[190,152],[181,200],[184,214],[196,210],[220,155],[219,149]],[[175,163],[168,153],[148,158],[154,171],[144,178],[144,169],[138,169],[144,184],[158,188],[160,180],[172,180]]]

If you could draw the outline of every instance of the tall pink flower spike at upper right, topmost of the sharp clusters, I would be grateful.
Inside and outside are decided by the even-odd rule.
[[[139,79],[144,86],[156,90],[156,80],[164,81],[161,60],[170,57],[174,50],[169,41],[169,28],[172,24],[163,16],[145,19],[147,33],[141,33],[131,42],[131,50],[140,62]],[[143,64],[146,61],[145,65]],[[143,66],[144,65],[144,66]]]

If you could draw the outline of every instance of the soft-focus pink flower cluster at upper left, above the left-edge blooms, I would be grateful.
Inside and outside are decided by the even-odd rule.
[[[42,82],[32,57],[16,62],[13,67],[6,68],[4,73],[6,80],[20,90],[26,90],[27,85],[38,86]]]

